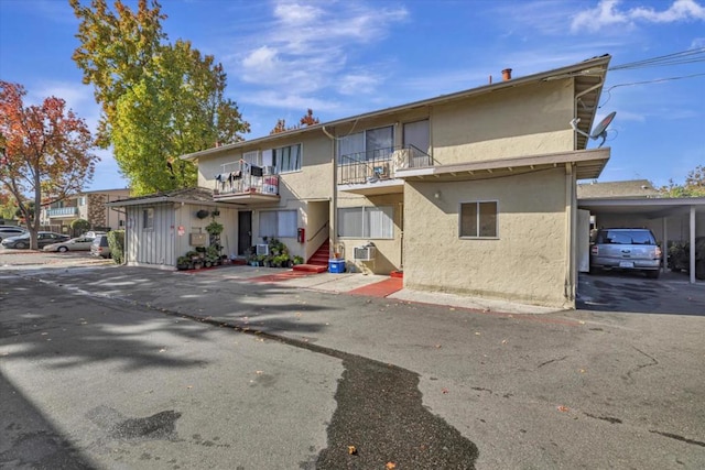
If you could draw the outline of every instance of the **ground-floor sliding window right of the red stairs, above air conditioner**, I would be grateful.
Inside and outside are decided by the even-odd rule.
[[[391,206],[338,209],[338,237],[391,239],[394,219]]]

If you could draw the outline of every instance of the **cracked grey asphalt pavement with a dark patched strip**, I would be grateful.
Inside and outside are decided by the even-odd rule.
[[[703,321],[6,265],[0,467],[701,469]]]

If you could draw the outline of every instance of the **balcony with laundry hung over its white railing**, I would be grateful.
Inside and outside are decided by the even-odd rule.
[[[279,175],[257,175],[252,174],[252,168],[220,173],[215,179],[213,198],[241,204],[276,203],[279,201]]]

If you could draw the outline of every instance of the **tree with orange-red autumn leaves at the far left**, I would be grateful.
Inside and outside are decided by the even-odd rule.
[[[25,107],[25,95],[22,85],[0,80],[0,192],[14,198],[36,249],[40,218],[29,201],[39,208],[80,193],[99,159],[86,122],[66,101],[48,97]]]

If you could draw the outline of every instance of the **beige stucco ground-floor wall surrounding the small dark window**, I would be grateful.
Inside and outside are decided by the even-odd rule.
[[[404,286],[567,307],[563,168],[404,188]],[[440,192],[440,197],[434,194]],[[462,239],[459,204],[498,203],[498,237]]]

